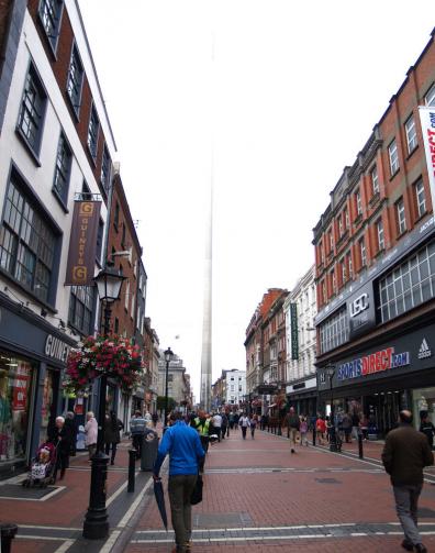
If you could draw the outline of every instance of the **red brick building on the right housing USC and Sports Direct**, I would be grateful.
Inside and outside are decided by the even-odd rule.
[[[320,394],[327,403],[333,364],[336,407],[364,411],[379,433],[404,407],[435,418],[434,218],[419,119],[434,104],[433,33],[314,229]]]

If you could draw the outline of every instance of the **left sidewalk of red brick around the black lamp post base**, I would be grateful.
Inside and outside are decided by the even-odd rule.
[[[111,551],[150,484],[150,473],[141,472],[137,461],[135,493],[126,491],[130,447],[130,440],[124,439],[119,444],[114,465],[108,467],[107,508],[110,539],[105,544],[81,538],[90,490],[91,464],[88,462],[87,452],[70,457],[65,478],[47,489],[23,488],[21,482],[25,475],[0,482],[0,521],[19,526],[18,535],[12,542],[12,552]]]

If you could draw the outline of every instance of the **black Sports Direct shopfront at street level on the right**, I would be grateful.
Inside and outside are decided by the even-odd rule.
[[[378,435],[394,427],[401,409],[413,411],[415,425],[421,411],[435,420],[434,323],[371,341],[370,346],[337,358],[334,367],[332,389],[325,368],[319,369],[321,401],[331,406],[333,397],[336,411],[364,412]]]

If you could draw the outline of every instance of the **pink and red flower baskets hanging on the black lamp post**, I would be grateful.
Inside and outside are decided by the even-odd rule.
[[[88,336],[80,349],[71,350],[67,361],[67,391],[85,390],[99,376],[107,375],[123,391],[133,390],[141,378],[143,362],[140,347],[119,336]]]

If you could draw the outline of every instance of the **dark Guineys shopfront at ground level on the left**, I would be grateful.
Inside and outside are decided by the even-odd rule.
[[[0,477],[25,466],[62,412],[62,378],[76,342],[0,292]]]

